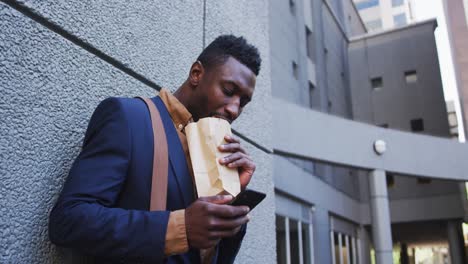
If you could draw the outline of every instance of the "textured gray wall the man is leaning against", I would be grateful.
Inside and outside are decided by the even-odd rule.
[[[171,90],[184,81],[204,36],[206,43],[221,33],[246,36],[259,46],[265,62],[254,100],[234,127],[269,148],[267,1],[231,3],[229,9],[228,3],[207,2],[206,15],[201,0],[24,4]],[[87,122],[106,97],[156,91],[4,3],[0,32],[0,262],[80,263],[79,256],[50,244],[47,218]],[[271,157],[244,144],[258,166],[252,188],[267,192],[268,199],[252,213],[238,262],[271,263],[276,256]],[[256,240],[260,236],[262,243]]]

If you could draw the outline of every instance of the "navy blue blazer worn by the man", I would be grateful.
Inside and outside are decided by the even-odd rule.
[[[199,250],[164,257],[169,211],[194,200],[192,178],[172,119],[159,97],[169,149],[167,211],[149,211],[153,130],[140,99],[108,98],[96,108],[49,218],[50,240],[104,262],[199,263]],[[232,263],[245,226],[218,244],[214,263]]]

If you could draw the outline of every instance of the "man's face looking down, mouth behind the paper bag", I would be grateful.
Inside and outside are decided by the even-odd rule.
[[[232,123],[252,99],[255,81],[255,74],[233,57],[205,68],[195,88],[194,119],[218,117]]]

